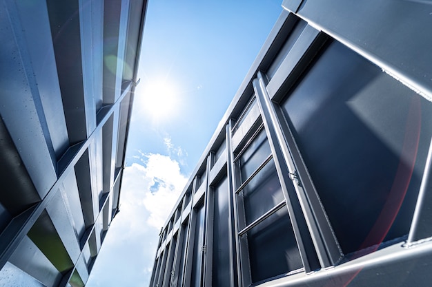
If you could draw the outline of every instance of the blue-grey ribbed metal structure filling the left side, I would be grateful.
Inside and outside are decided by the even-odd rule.
[[[0,286],[84,286],[119,195],[146,0],[0,1]]]

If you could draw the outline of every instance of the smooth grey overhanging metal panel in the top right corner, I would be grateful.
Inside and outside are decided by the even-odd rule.
[[[432,99],[430,1],[308,0],[298,15]]]

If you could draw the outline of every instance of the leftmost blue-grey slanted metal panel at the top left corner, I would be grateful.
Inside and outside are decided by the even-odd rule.
[[[57,180],[55,152],[47,142],[48,126],[30,54],[13,1],[0,3],[0,114],[33,184],[45,197]],[[7,67],[7,68],[6,68]],[[13,96],[10,96],[13,95]]]

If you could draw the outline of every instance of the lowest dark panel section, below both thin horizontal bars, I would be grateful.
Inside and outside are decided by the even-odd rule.
[[[247,236],[254,283],[303,267],[285,208],[252,228]]]

